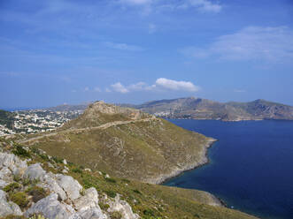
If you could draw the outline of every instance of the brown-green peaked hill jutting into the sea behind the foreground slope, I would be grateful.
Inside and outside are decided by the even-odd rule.
[[[19,143],[115,177],[158,184],[207,162],[213,141],[138,109],[95,102],[58,131]]]

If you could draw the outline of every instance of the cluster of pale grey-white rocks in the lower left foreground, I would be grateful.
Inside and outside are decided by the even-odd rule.
[[[120,200],[118,195],[115,200],[107,199],[110,206],[104,212],[99,206],[99,194],[96,188],[84,190],[80,183],[71,176],[53,174],[42,169],[40,163],[27,167],[26,161],[21,161],[16,155],[0,153],[0,185],[12,185],[14,177],[37,180],[37,186],[48,193],[47,197],[31,202],[31,206],[24,208],[8,199],[7,193],[0,190],[0,217],[7,215],[43,215],[48,219],[109,219],[113,212],[120,212],[121,219],[137,219],[127,201]],[[21,193],[27,189],[19,185]],[[83,195],[81,194],[83,193]]]

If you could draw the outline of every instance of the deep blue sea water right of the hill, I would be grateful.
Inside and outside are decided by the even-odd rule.
[[[293,122],[170,121],[219,141],[209,164],[165,185],[208,191],[261,218],[293,218]]]

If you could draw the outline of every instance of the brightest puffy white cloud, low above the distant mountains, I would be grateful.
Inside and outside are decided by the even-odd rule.
[[[165,79],[160,78],[156,80],[156,87],[163,87],[170,90],[182,90],[189,92],[196,92],[199,90],[199,87],[195,86],[190,81],[183,80],[173,80],[173,79]]]

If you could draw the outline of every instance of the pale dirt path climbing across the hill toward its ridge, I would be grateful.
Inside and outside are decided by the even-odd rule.
[[[115,122],[110,122],[110,123],[106,123],[106,124],[95,126],[95,127],[88,127],[88,128],[81,128],[81,129],[67,129],[65,131],[43,134],[42,136],[38,136],[38,137],[31,138],[28,140],[18,140],[18,143],[27,143],[30,141],[41,140],[42,138],[55,136],[60,133],[83,132],[83,131],[92,131],[92,130],[97,130],[97,129],[104,130],[104,129],[107,129],[107,128],[110,128],[110,127],[116,126],[116,125],[126,125],[126,124],[137,123],[137,122],[149,122],[151,120],[157,120],[157,119],[158,118],[156,118],[156,117],[150,117],[150,118],[143,118],[143,119],[137,119],[137,120],[115,121]]]

